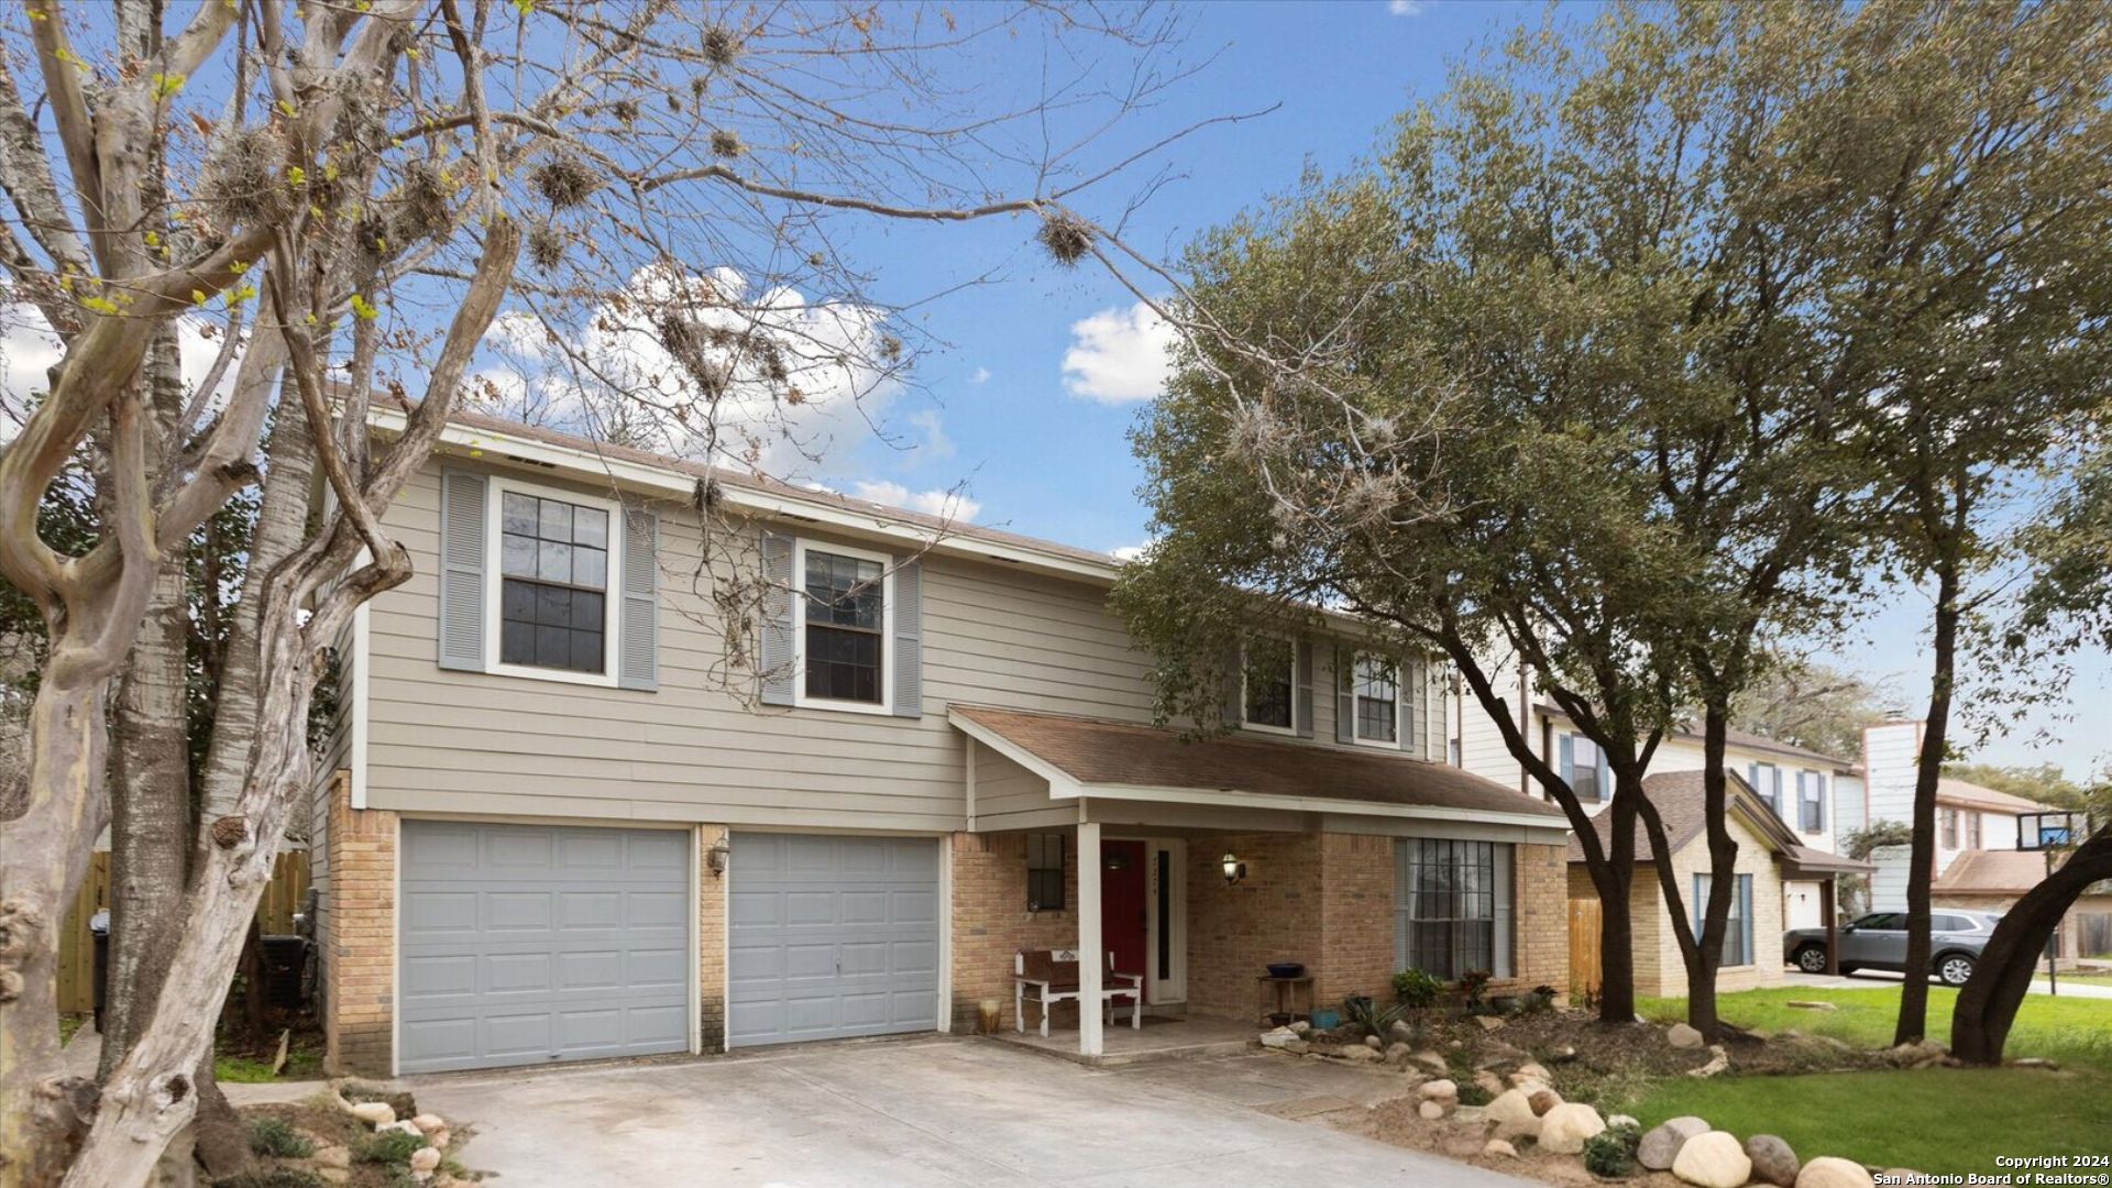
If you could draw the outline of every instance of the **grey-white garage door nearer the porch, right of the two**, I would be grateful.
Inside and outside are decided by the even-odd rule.
[[[735,833],[727,1046],[938,1027],[938,841]]]

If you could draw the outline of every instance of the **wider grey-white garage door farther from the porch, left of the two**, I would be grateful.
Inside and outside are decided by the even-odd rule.
[[[689,1051],[684,829],[406,820],[403,1072]]]

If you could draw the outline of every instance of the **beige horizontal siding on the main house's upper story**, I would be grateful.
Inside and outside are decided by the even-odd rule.
[[[1102,588],[940,554],[923,562],[923,719],[756,706],[729,687],[699,522],[682,507],[661,507],[659,691],[441,670],[437,465],[389,522],[416,575],[372,611],[374,808],[957,831],[965,740],[950,702],[1151,721],[1147,657]],[[1328,653],[1316,647],[1318,740],[1333,738]]]

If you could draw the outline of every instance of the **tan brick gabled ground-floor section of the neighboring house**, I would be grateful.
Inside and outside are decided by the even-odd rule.
[[[1734,865],[1738,884],[1732,888],[1717,989],[1780,985],[1787,979],[1783,932],[1795,928],[1783,920],[1785,905],[1791,903],[1785,888],[1808,884],[1821,888],[1821,896],[1829,896],[1835,875],[1863,873],[1869,871],[1869,865],[1806,846],[1745,776],[1732,774],[1728,784],[1726,824],[1738,843]],[[1700,913],[1711,881],[1702,774],[1698,769],[1658,772],[1643,778],[1643,793],[1664,820],[1664,837],[1671,843],[1673,873],[1685,905],[1687,926],[1700,936]],[[1607,814],[1592,818],[1603,846],[1611,846],[1609,820]],[[1656,848],[1643,829],[1637,829],[1635,858],[1635,881],[1628,888],[1628,911],[1635,922],[1635,991],[1652,998],[1683,998],[1687,994],[1687,966],[1679,955],[1679,936],[1671,926],[1666,896],[1654,867]],[[1569,898],[1599,898],[1584,865],[1584,848],[1576,839],[1569,841]]]

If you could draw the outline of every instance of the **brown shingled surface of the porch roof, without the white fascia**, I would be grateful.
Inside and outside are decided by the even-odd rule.
[[[1563,829],[1561,810],[1447,763],[1347,746],[1257,738],[1183,740],[1170,729],[1105,719],[953,706],[963,727],[980,727],[1056,767],[1077,784],[1189,788],[1227,797],[1303,797],[1489,812],[1544,818]],[[974,731],[972,731],[974,734]]]

